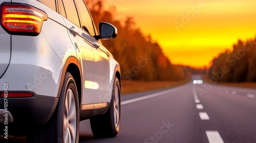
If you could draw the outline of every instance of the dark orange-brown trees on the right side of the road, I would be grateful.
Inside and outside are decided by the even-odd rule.
[[[238,40],[212,60],[209,78],[217,82],[256,82],[256,37]]]

